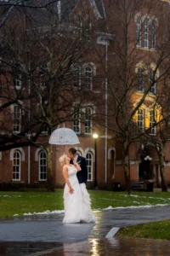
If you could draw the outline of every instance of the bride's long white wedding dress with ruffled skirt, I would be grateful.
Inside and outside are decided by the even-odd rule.
[[[77,179],[77,169],[75,166],[68,166],[68,177],[74,193],[70,194],[69,187],[65,184],[64,203],[65,218],[63,223],[92,223],[95,217],[91,209],[91,201],[86,185],[79,184]]]

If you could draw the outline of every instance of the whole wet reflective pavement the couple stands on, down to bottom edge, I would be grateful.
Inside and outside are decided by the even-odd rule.
[[[170,242],[111,238],[112,227],[170,218],[170,207],[96,211],[96,224],[62,224],[63,214],[0,222],[0,255],[170,255]]]

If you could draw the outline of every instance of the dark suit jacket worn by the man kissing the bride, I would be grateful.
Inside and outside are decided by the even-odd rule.
[[[73,161],[71,160],[71,165],[73,165]],[[81,166],[81,171],[77,172],[77,179],[79,183],[87,183],[88,180],[88,167],[86,164],[86,159],[80,155],[77,157],[77,164]]]

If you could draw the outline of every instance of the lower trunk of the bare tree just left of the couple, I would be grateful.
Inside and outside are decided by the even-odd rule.
[[[53,150],[52,145],[48,145],[48,191],[54,192],[54,171],[53,171]]]

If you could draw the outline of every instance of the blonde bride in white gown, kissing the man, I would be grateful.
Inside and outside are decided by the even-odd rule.
[[[65,218],[63,223],[95,222],[88,192],[88,200],[82,201],[82,190],[77,179],[77,172],[81,171],[81,167],[76,160],[73,161],[74,165],[71,165],[70,160],[70,157],[66,154],[59,158],[59,162],[63,166],[63,177],[65,178]]]

